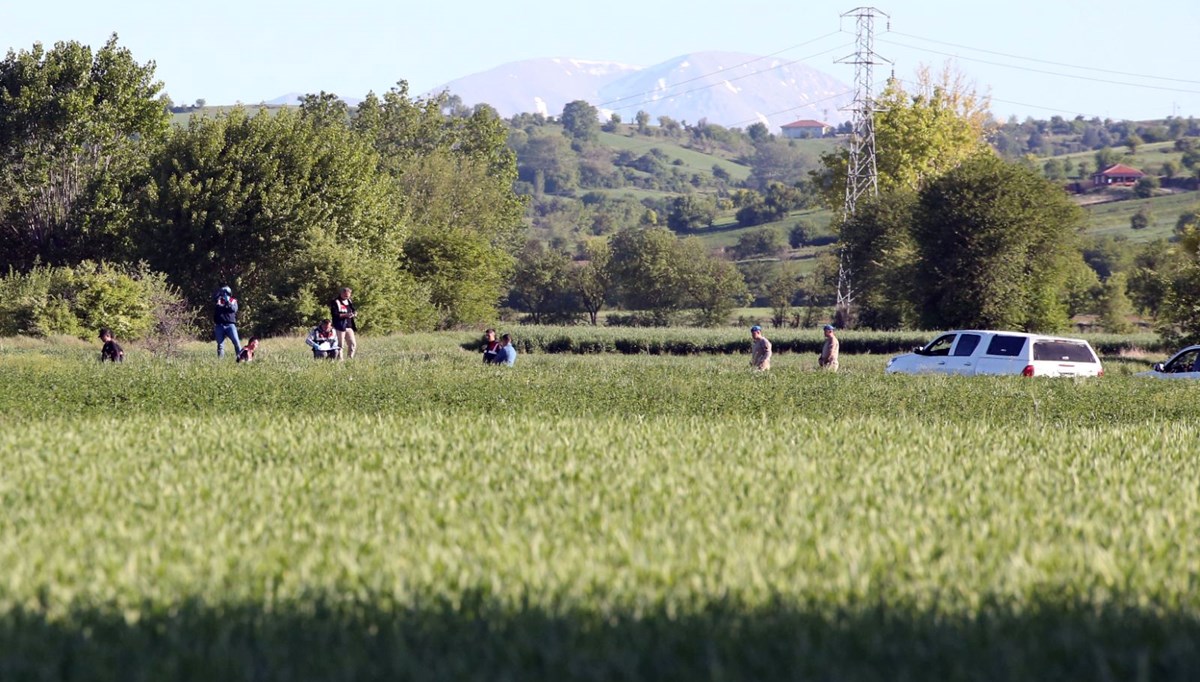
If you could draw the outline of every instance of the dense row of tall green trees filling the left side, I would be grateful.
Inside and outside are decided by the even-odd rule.
[[[322,94],[173,127],[161,90],[115,36],[8,53],[4,273],[144,262],[193,306],[234,287],[258,333],[310,324],[340,286],[379,330],[494,317],[524,210],[494,112],[401,83],[356,112]]]

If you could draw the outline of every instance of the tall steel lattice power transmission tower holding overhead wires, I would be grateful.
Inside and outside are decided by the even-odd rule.
[[[844,12],[841,17],[854,17],[856,41],[854,54],[838,60],[838,64],[854,65],[854,102],[851,106],[853,119],[850,132],[850,157],[846,166],[846,201],[842,204],[842,216],[854,215],[854,208],[863,195],[878,192],[878,174],[875,166],[875,98],[872,96],[875,80],[872,68],[876,64],[892,64],[875,53],[875,18],[890,17],[875,7],[856,7]],[[890,26],[890,23],[889,23]],[[848,271],[844,251],[838,253],[838,316],[845,319],[854,303],[852,273]]]

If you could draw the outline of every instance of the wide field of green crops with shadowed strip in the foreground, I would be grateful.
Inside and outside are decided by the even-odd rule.
[[[1200,387],[464,340],[0,340],[0,680],[1200,670]]]

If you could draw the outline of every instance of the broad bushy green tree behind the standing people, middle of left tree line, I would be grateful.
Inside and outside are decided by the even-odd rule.
[[[402,207],[378,166],[328,98],[193,118],[154,158],[140,255],[193,304],[234,287],[259,333],[311,324],[341,286],[367,328],[428,325],[428,292],[402,270]]]

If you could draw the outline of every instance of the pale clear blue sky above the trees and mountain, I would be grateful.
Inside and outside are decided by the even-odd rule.
[[[534,58],[653,65],[730,50],[802,60],[844,83],[853,67],[852,2],[545,2],[496,0],[53,0],[0,8],[0,47],[28,49],[112,32],[154,60],[179,103],[254,103],[290,91],[361,97],[397,80],[420,94]],[[1200,2],[905,0],[876,4],[876,52],[911,79],[920,64],[955,66],[992,112],[1147,119],[1200,116]],[[829,35],[841,29],[845,32]],[[818,38],[818,40],[815,40]],[[811,42],[810,42],[811,41]],[[802,43],[808,43],[803,44]],[[984,52],[986,50],[986,52]],[[1088,68],[1080,68],[1088,67]],[[888,68],[877,68],[883,77]]]

